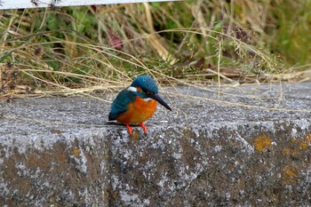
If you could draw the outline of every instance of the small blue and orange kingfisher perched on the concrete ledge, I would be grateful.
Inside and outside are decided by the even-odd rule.
[[[132,135],[131,123],[139,124],[147,134],[147,121],[156,112],[156,102],[171,110],[171,107],[157,94],[156,82],[150,76],[138,76],[132,84],[120,92],[111,104],[109,121],[125,123]]]

